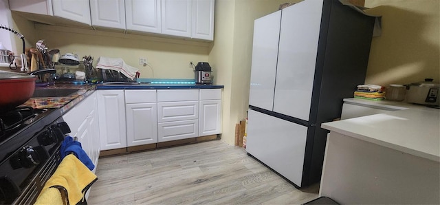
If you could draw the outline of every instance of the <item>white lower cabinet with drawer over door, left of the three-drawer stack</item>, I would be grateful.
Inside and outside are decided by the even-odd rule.
[[[126,90],[127,147],[157,142],[156,90]]]

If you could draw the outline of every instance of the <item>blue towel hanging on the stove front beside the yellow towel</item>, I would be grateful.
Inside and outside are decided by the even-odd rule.
[[[95,169],[95,165],[91,162],[87,153],[85,153],[83,147],[81,147],[81,142],[75,141],[71,136],[66,136],[63,143],[61,143],[61,160],[65,158],[66,155],[73,153],[78,160],[83,162],[87,168],[90,170]]]

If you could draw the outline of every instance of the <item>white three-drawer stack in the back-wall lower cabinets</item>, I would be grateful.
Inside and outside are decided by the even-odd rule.
[[[199,136],[199,90],[157,91],[158,142]]]

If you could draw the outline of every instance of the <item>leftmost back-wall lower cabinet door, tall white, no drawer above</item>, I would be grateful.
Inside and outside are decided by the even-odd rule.
[[[126,147],[123,90],[98,90],[101,150]]]

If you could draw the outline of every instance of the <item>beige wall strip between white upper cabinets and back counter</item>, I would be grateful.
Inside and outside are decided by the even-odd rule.
[[[80,58],[90,55],[95,61],[99,56],[122,58],[140,69],[141,78],[194,78],[190,62],[208,61],[210,46],[195,41],[39,24],[35,31],[34,42],[45,39],[47,47],[59,49],[61,54],[72,52]],[[140,57],[146,57],[150,66],[139,65]]]

